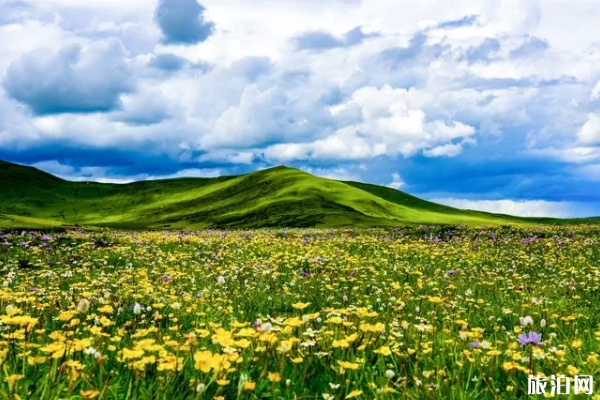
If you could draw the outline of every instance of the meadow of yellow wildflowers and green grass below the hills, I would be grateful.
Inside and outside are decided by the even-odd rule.
[[[0,399],[516,399],[530,373],[600,384],[596,226],[13,232],[0,272]]]

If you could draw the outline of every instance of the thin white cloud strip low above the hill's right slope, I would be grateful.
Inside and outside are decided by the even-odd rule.
[[[428,199],[447,206],[486,211],[521,217],[580,218],[594,216],[597,210],[585,203],[553,202],[544,200],[465,200],[454,198]]]

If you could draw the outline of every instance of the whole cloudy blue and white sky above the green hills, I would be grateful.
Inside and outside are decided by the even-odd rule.
[[[597,0],[0,0],[0,159],[600,215]]]

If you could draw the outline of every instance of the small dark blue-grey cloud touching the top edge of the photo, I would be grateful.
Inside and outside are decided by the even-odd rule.
[[[208,39],[215,24],[205,20],[204,10],[196,0],[159,0],[155,18],[163,42],[190,45]]]

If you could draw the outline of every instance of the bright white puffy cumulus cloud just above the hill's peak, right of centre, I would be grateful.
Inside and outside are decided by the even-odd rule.
[[[411,107],[409,99],[414,95],[387,85],[361,88],[348,101],[330,108],[334,118],[350,114],[354,123],[313,142],[271,146],[266,155],[273,160],[409,157],[422,150],[430,157],[457,155],[462,145],[448,142],[467,138],[475,129],[460,121],[427,121],[423,110]]]

